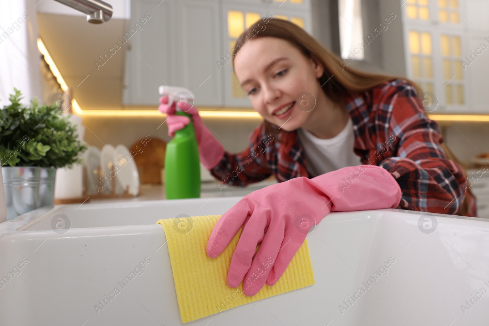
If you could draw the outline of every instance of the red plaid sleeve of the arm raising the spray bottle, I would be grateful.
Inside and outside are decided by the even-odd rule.
[[[265,180],[272,174],[265,152],[271,150],[269,144],[273,138],[264,138],[263,128],[262,123],[249,134],[250,145],[243,152],[232,154],[224,151],[221,161],[209,170],[226,187],[245,186]]]

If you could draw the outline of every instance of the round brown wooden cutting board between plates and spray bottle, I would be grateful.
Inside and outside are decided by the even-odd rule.
[[[165,167],[166,142],[156,137],[142,138],[131,146],[134,162],[143,183],[161,183],[161,169]]]

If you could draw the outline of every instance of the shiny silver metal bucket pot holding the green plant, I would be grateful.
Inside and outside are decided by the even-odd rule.
[[[56,169],[2,167],[7,219],[36,208],[54,206]]]

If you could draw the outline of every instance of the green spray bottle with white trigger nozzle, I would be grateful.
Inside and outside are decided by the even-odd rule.
[[[175,101],[193,104],[194,95],[183,87],[160,86],[159,93],[168,95],[169,106]],[[192,116],[179,111],[177,104],[175,114],[188,117],[190,123],[183,129],[175,131],[175,137],[166,144],[164,181],[166,199],[199,198],[200,160],[194,124]]]

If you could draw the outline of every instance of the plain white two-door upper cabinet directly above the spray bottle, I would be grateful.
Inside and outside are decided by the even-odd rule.
[[[125,105],[157,105],[160,85],[191,89],[199,106],[222,105],[218,10],[217,0],[132,1],[133,20],[151,19],[127,52]]]

